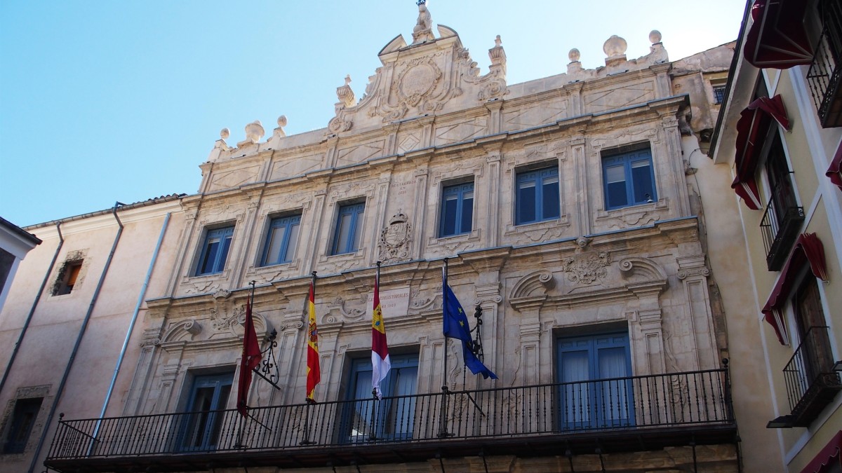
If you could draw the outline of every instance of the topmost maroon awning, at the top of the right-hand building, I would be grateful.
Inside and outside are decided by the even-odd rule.
[[[743,56],[752,66],[787,69],[813,61],[804,29],[806,0],[755,0]]]

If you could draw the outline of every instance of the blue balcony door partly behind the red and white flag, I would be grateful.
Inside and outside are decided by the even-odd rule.
[[[349,443],[398,440],[413,436],[418,354],[389,357],[392,369],[381,382],[383,398],[371,395],[371,359],[351,361],[347,400],[342,416],[344,440]]]

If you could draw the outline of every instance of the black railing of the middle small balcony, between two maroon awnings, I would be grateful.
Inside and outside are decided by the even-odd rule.
[[[760,220],[766,265],[770,271],[781,269],[804,221],[804,209],[797,204],[791,187],[780,189],[783,187],[772,189],[772,198]]]

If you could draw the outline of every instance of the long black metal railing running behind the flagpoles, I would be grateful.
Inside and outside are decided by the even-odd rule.
[[[733,423],[727,369],[447,393],[60,420],[51,460],[368,448]],[[96,432],[94,438],[94,432]]]

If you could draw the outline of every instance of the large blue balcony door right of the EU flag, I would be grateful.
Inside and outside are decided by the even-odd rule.
[[[559,338],[557,367],[562,429],[634,425],[628,333]]]

